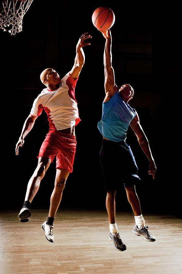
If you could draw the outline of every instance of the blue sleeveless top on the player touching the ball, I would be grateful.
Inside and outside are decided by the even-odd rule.
[[[135,116],[135,109],[123,101],[118,91],[103,103],[102,119],[97,127],[104,138],[114,142],[124,141],[126,131]]]

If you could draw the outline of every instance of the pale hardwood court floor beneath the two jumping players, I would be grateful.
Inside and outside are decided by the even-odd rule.
[[[1,212],[0,273],[182,273],[182,220],[175,216],[144,215],[157,239],[150,243],[132,233],[132,213],[117,213],[127,246],[120,252],[109,240],[106,211],[59,209],[54,243],[41,228],[47,212],[32,210],[28,223],[19,222],[17,211]]]

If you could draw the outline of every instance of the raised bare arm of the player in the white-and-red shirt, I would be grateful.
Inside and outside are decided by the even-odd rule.
[[[90,43],[85,43],[84,40],[87,38],[92,38],[92,36],[87,35],[88,32],[84,33],[78,40],[78,43],[76,45],[76,57],[75,57],[75,63],[72,67],[72,70],[70,71],[70,76],[73,79],[78,78],[81,69],[83,68],[84,62],[85,62],[85,54],[83,51],[83,47],[90,45]]]

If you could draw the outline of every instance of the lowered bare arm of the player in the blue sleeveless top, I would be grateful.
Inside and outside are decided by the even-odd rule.
[[[153,156],[150,150],[149,142],[147,140],[147,137],[145,133],[143,132],[143,129],[140,125],[139,117],[138,114],[136,113],[135,118],[131,121],[130,123],[131,128],[136,134],[136,137],[138,139],[138,142],[143,150],[143,152],[146,154],[147,158],[149,159],[150,165],[149,168],[150,170],[148,171],[149,174],[153,175],[153,179],[155,176],[155,171],[156,171],[156,165],[153,160]]]

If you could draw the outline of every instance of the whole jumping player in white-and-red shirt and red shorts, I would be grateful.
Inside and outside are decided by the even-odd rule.
[[[38,165],[29,180],[25,195],[25,202],[19,213],[20,222],[28,222],[30,204],[37,193],[40,181],[44,177],[50,163],[56,156],[55,186],[50,198],[49,216],[42,224],[45,237],[54,242],[53,221],[59,207],[66,179],[73,169],[73,161],[76,150],[75,125],[80,121],[77,102],[75,99],[75,86],[80,71],[84,65],[85,55],[83,47],[90,45],[84,40],[91,38],[84,33],[76,45],[76,57],[74,65],[62,79],[52,68],[46,68],[40,75],[42,83],[46,86],[35,99],[30,115],[25,120],[19,141],[16,144],[16,155],[19,146],[23,146],[25,136],[32,129],[36,118],[44,109],[48,116],[49,132],[39,151]]]

